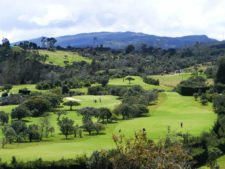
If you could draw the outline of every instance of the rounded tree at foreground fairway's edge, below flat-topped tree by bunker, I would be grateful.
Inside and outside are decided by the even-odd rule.
[[[69,119],[68,117],[64,117],[62,120],[58,122],[58,125],[60,127],[60,131],[62,134],[68,138],[69,135],[73,134],[74,132],[74,121],[72,119]]]

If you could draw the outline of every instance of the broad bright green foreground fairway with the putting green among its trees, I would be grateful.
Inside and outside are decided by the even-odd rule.
[[[101,97],[101,103],[99,98]],[[81,106],[74,109],[92,106],[92,107],[109,107],[113,108],[120,101],[115,96],[76,96]],[[95,103],[93,100],[98,102]],[[63,107],[68,110],[69,107]],[[76,124],[81,124],[81,115],[76,111],[68,111],[67,115],[75,120]],[[119,120],[117,123],[107,124],[105,134],[97,136],[88,136],[84,133],[82,139],[75,138],[65,140],[64,136],[59,134],[56,122],[56,115],[50,115],[51,125],[55,127],[54,137],[49,137],[43,142],[23,143],[7,145],[5,149],[0,149],[0,156],[3,161],[9,161],[14,155],[18,160],[33,160],[42,157],[45,160],[57,160],[64,158],[72,158],[83,153],[90,154],[93,150],[108,149],[114,146],[112,141],[112,133],[118,133],[121,129],[122,133],[132,136],[135,131],[146,128],[148,135],[157,140],[165,136],[168,126],[171,131],[189,132],[193,135],[199,135],[203,131],[208,131],[214,121],[216,115],[213,113],[211,105],[201,106],[200,103],[194,101],[193,97],[183,97],[177,93],[166,92],[161,93],[158,104],[150,107],[150,116]],[[30,123],[38,123],[39,118],[27,118]],[[183,128],[180,123],[183,122]],[[72,138],[72,136],[71,136]]]

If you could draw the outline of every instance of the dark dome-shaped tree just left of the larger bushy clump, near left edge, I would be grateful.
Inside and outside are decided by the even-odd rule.
[[[21,120],[24,117],[30,116],[31,113],[26,106],[20,105],[12,110],[11,117],[12,119]]]

